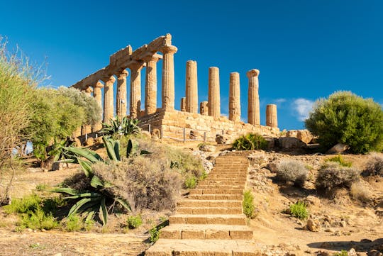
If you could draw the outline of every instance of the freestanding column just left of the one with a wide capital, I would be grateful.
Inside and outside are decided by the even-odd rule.
[[[229,120],[240,121],[240,79],[239,73],[230,73],[229,80]]]

